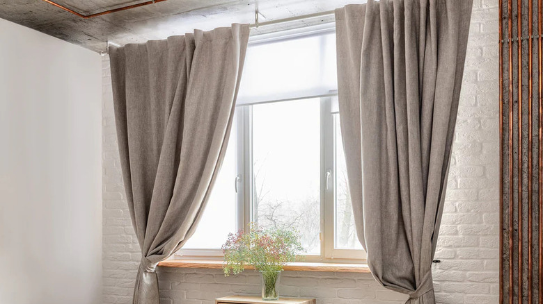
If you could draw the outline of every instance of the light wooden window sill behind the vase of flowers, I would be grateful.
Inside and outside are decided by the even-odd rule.
[[[159,267],[174,268],[203,268],[222,269],[223,261],[219,260],[166,260],[159,262]],[[253,269],[253,267],[246,267]],[[286,271],[323,271],[323,272],[357,272],[370,273],[367,264],[343,264],[343,263],[290,263],[284,267]]]

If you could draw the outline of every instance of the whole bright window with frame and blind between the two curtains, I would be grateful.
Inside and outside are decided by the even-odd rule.
[[[178,252],[219,256],[255,221],[295,227],[306,260],[365,258],[356,236],[330,26],[251,37],[221,172],[196,233]]]

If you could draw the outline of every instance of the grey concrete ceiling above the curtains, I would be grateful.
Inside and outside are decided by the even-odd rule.
[[[83,15],[111,10],[144,0],[56,0],[57,3]],[[124,45],[147,40],[183,35],[200,28],[205,31],[232,23],[254,23],[255,8],[261,12],[260,22],[296,17],[333,10],[360,0],[167,0],[109,15],[84,19],[42,0],[0,0],[0,18],[33,28],[42,33],[81,45],[93,51],[104,51],[106,41]],[[333,16],[281,24],[297,27],[326,22]],[[270,31],[258,28],[253,31]]]

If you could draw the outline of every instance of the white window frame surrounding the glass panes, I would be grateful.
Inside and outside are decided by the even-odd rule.
[[[290,40],[296,37],[307,37],[308,35],[322,35],[335,31],[333,25],[325,24],[310,28],[310,30],[294,30],[281,33],[271,33],[266,35],[253,36],[251,43],[276,42],[279,40]],[[345,263],[363,263],[367,257],[365,251],[359,249],[335,248],[335,226],[336,226],[336,146],[343,144],[336,141],[335,121],[333,115],[337,113],[337,91],[328,92],[308,92],[307,94],[297,94],[296,96],[277,96],[278,99],[269,101],[260,101],[258,103],[244,102],[236,107],[235,121],[237,128],[236,142],[236,167],[237,174],[233,177],[233,187],[237,190],[237,229],[247,230],[249,223],[253,221],[253,151],[252,151],[252,108],[253,105],[262,103],[288,102],[301,99],[320,99],[321,113],[321,164],[320,164],[320,189],[321,189],[321,231],[320,231],[320,255],[306,255],[306,262],[345,262]],[[233,129],[234,130],[234,129]],[[328,185],[327,185],[328,184]],[[223,252],[221,249],[180,249],[174,258],[190,260],[214,260],[221,259]]]

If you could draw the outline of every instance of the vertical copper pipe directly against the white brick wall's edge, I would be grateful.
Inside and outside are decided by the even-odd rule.
[[[498,12],[500,46],[500,304],[503,303],[503,10],[500,1]]]

